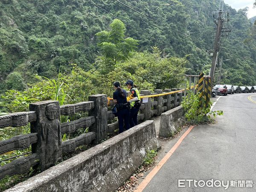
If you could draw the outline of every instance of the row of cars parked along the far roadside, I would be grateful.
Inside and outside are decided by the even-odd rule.
[[[217,94],[226,96],[227,94],[234,93],[254,93],[256,92],[256,86],[234,86],[231,84],[216,84],[212,89],[212,97]]]

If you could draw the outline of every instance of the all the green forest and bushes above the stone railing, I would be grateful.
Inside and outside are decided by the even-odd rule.
[[[114,80],[154,89],[179,86],[185,73],[209,73],[219,1],[122,2],[148,18],[116,0],[2,0],[2,99],[56,99],[54,79],[63,83],[67,101],[77,102],[111,94]],[[256,85],[256,23],[247,9],[224,9],[232,32],[219,55],[230,59],[221,81]],[[9,110],[25,108],[17,106]]]

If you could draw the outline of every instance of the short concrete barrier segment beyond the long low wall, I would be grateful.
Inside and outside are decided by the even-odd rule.
[[[161,114],[159,137],[171,137],[183,125],[184,110],[179,106]]]

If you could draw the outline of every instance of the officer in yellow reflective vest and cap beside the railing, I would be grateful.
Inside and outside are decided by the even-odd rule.
[[[132,99],[129,100],[131,104],[130,126],[132,128],[135,125],[138,125],[137,116],[140,109],[140,93],[139,90],[136,88],[137,86],[134,84],[132,80],[128,80],[125,84],[130,89],[132,94]]]

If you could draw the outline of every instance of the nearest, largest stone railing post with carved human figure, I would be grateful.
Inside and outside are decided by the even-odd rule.
[[[31,133],[38,134],[38,142],[32,144],[32,153],[38,154],[41,171],[44,171],[62,159],[59,102],[30,103],[29,111],[37,114],[36,121],[30,123]]]

